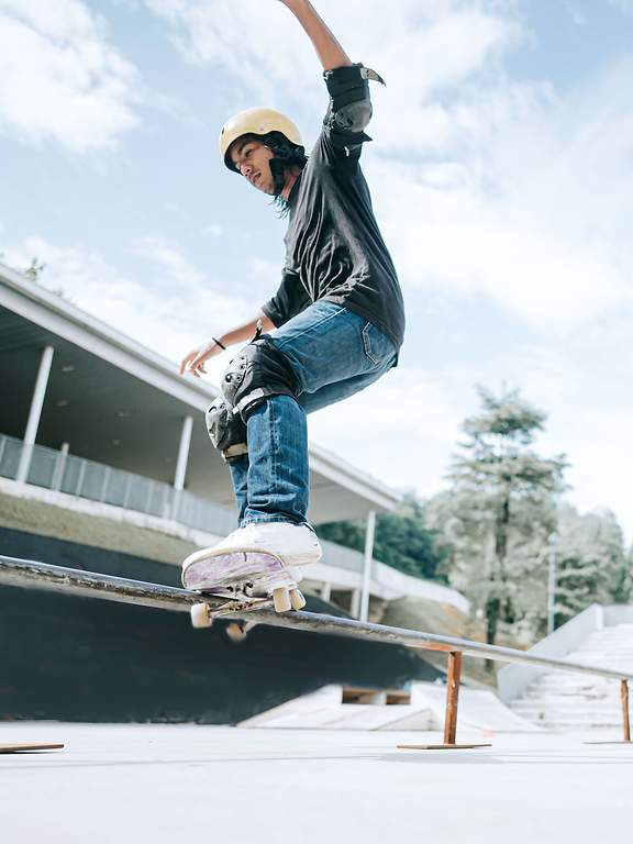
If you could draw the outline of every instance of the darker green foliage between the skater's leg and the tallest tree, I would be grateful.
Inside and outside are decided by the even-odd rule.
[[[362,521],[323,524],[319,535],[355,551],[363,552],[365,547]],[[409,495],[395,513],[377,515],[374,558],[413,577],[447,582],[445,554],[436,545],[438,538],[436,531],[424,526],[421,502]]]

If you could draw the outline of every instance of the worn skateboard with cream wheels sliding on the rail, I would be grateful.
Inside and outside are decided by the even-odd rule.
[[[210,598],[225,598],[218,608],[209,603],[191,607],[191,624],[210,628],[222,615],[274,608],[275,612],[301,610],[306,599],[297,581],[276,554],[232,551],[202,557],[182,574],[182,585]]]

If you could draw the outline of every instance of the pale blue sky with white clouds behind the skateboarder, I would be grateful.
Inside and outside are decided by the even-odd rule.
[[[408,334],[320,445],[430,497],[476,386],[547,413],[568,499],[633,538],[633,0],[320,0],[375,68],[363,167]],[[278,0],[0,0],[0,258],[178,362],[277,289],[286,222],[226,170],[222,123],[327,106]],[[227,363],[210,367],[216,381]]]

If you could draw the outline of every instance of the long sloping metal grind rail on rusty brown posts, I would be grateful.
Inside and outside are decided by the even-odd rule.
[[[122,577],[112,577],[93,571],[81,571],[74,568],[62,568],[44,563],[34,563],[26,559],[0,556],[0,584],[5,586],[32,587],[48,591],[65,592],[84,598],[97,598],[119,603],[133,603],[137,607],[152,607],[159,610],[175,612],[189,612],[191,606],[206,601],[212,609],[221,603],[220,599],[200,596],[186,589],[176,589],[156,584],[145,584],[140,580],[130,580]],[[571,671],[576,674],[590,674],[597,677],[607,677],[619,680],[621,685],[622,720],[624,738],[623,743],[631,743],[631,721],[629,707],[629,681],[633,681],[633,674],[619,671],[615,668],[600,668],[598,666],[571,663],[556,657],[538,656],[511,647],[498,647],[482,642],[471,642],[466,638],[453,636],[440,636],[433,633],[424,633],[401,628],[389,628],[382,624],[355,621],[354,619],[337,618],[313,612],[288,612],[278,614],[273,610],[248,610],[247,613],[227,613],[223,618],[243,619],[267,624],[274,628],[289,628],[310,633],[329,633],[334,635],[354,636],[356,638],[382,642],[392,645],[421,651],[441,651],[448,655],[446,712],[444,721],[444,743],[438,745],[400,745],[401,747],[420,749],[449,749],[478,747],[489,745],[457,744],[455,741],[457,731],[457,706],[459,695],[459,680],[462,674],[463,655],[496,659],[504,663],[523,663],[524,665],[537,665],[544,668]]]

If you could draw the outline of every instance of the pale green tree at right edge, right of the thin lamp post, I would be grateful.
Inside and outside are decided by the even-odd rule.
[[[591,603],[625,603],[630,595],[631,560],[613,513],[602,510],[580,515],[570,504],[562,504],[556,545],[556,626]]]

